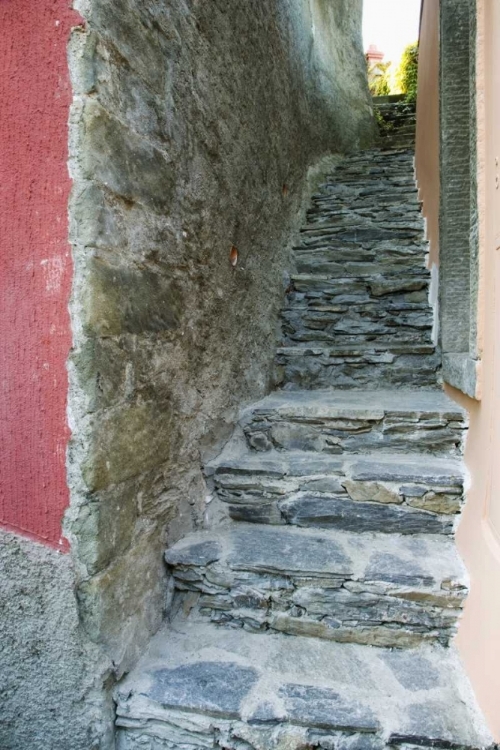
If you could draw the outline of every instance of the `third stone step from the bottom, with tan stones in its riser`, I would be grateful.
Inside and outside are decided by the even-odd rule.
[[[230,443],[205,467],[236,521],[451,533],[463,503],[462,464],[417,455],[251,453]]]

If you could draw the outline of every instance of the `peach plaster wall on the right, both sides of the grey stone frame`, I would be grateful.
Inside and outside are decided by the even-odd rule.
[[[439,262],[439,0],[425,0],[417,112],[417,178],[431,259]],[[477,349],[481,400],[447,387],[469,412],[465,461],[470,473],[457,543],[471,591],[457,645],[482,710],[500,741],[500,3],[477,0],[477,153],[479,294]],[[427,106],[429,103],[429,106]],[[499,187],[497,187],[497,184]]]

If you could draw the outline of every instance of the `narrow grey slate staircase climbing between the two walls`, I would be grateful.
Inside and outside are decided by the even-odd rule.
[[[313,198],[279,389],[205,467],[226,520],[166,552],[170,619],[117,687],[119,750],[493,746],[450,645],[466,416],[439,387],[408,151]]]

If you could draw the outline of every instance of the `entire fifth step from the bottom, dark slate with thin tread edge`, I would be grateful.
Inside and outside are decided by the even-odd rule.
[[[437,388],[441,356],[415,342],[295,344],[278,349],[276,364],[276,384],[287,389]]]

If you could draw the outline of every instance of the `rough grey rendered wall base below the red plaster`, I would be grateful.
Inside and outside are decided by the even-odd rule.
[[[0,570],[0,747],[111,747],[111,664],[79,627],[69,555],[2,531]]]

